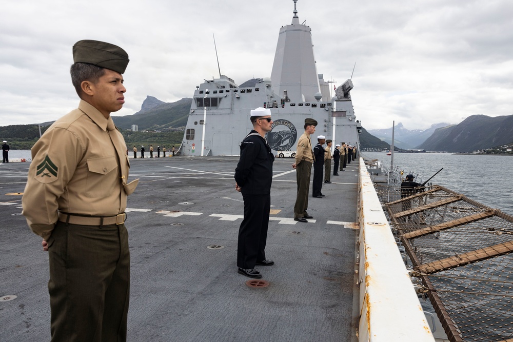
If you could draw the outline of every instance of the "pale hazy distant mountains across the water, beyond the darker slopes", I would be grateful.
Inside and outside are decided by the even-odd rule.
[[[448,126],[449,124],[433,124],[428,129],[409,130],[399,123],[395,126],[393,135],[393,146],[402,149],[413,149],[425,142],[427,138],[435,132],[436,129]],[[380,138],[388,145],[392,143],[392,127],[384,129],[370,129],[369,133]]]

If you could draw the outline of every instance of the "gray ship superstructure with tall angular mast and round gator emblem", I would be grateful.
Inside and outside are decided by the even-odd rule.
[[[330,94],[315,65],[311,29],[300,24],[294,2],[292,23],[280,29],[271,77],[237,85],[221,75],[196,87],[180,153],[190,156],[239,155],[239,144],[252,129],[249,112],[271,110],[266,138],[276,152],[295,150],[305,118],[317,120],[315,134],[360,150],[361,125],[354,115],[348,79]]]

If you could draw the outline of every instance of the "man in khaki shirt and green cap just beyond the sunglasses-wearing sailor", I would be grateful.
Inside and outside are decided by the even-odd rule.
[[[298,195],[294,205],[294,220],[299,222],[308,222],[307,218],[313,218],[308,215],[308,190],[310,188],[310,176],[312,172],[313,151],[310,135],[315,132],[317,121],[312,118],[305,119],[305,132],[298,139],[296,148],[295,163],[292,168],[296,171],[298,182]]]

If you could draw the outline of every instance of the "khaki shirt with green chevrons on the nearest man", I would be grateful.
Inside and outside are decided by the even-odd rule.
[[[47,239],[58,211],[114,216],[126,209],[130,164],[123,135],[96,108],[81,100],[32,147],[22,198],[30,229]]]

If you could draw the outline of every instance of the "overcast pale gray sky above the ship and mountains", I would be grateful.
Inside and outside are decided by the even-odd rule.
[[[71,47],[81,39],[130,56],[124,108],[147,95],[192,97],[221,73],[242,84],[270,77],[292,0],[17,0],[0,11],[0,126],[55,120],[78,104]],[[351,76],[366,129],[458,124],[473,114],[513,114],[513,1],[298,0],[318,73]]]

